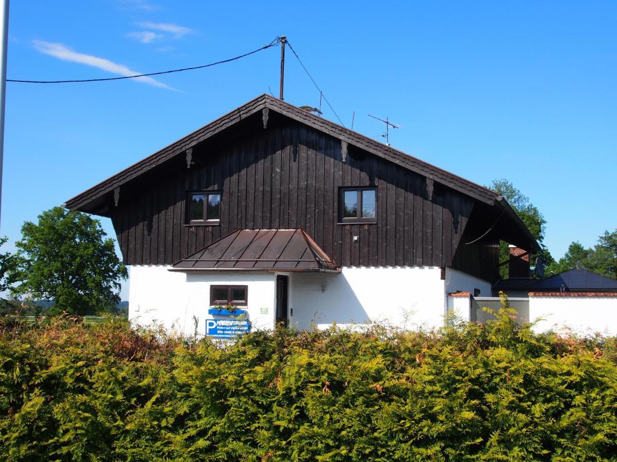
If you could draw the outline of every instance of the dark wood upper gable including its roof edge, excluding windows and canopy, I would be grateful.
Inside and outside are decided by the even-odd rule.
[[[339,266],[455,261],[465,268],[454,256],[473,209],[499,211],[494,193],[264,98],[265,105],[247,103],[68,208],[110,216],[126,264],[172,265],[236,229],[302,229]],[[339,224],[341,187],[376,187],[375,224]],[[201,190],[222,192],[217,225],[188,224],[189,193]],[[478,215],[474,232],[491,226],[491,214]]]

